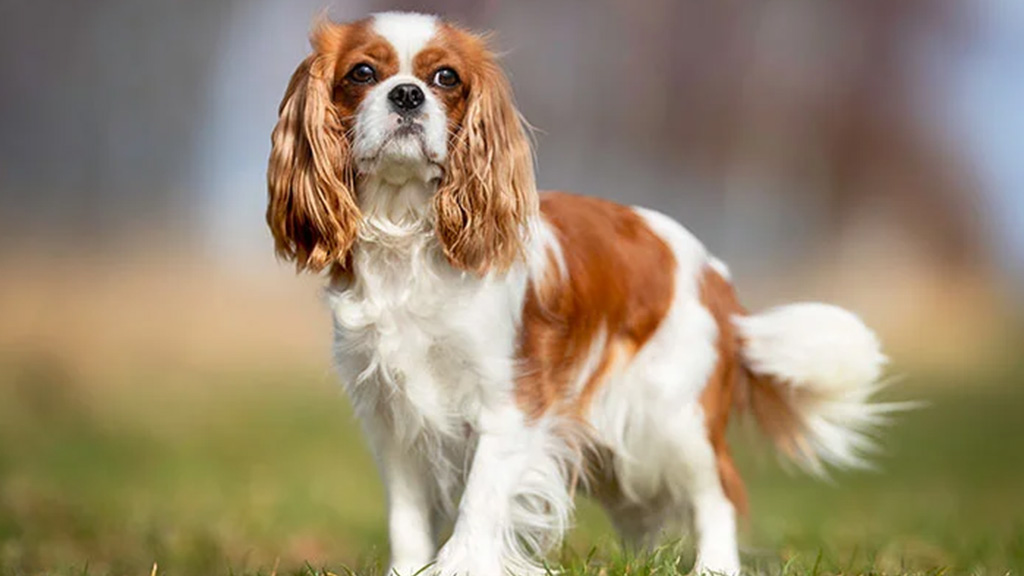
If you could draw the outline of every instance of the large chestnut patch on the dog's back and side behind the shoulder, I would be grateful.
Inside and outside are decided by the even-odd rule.
[[[596,198],[546,193],[541,212],[562,248],[549,278],[535,279],[523,305],[516,397],[531,416],[556,408],[583,418],[601,384],[650,338],[669,311],[676,260],[635,211]],[[599,335],[598,362],[577,396],[572,384]]]

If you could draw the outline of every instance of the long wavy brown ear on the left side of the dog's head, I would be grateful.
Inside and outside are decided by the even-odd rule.
[[[266,221],[278,255],[299,272],[345,265],[359,225],[349,145],[331,99],[341,27],[313,33],[314,53],[299,65],[271,135]]]

